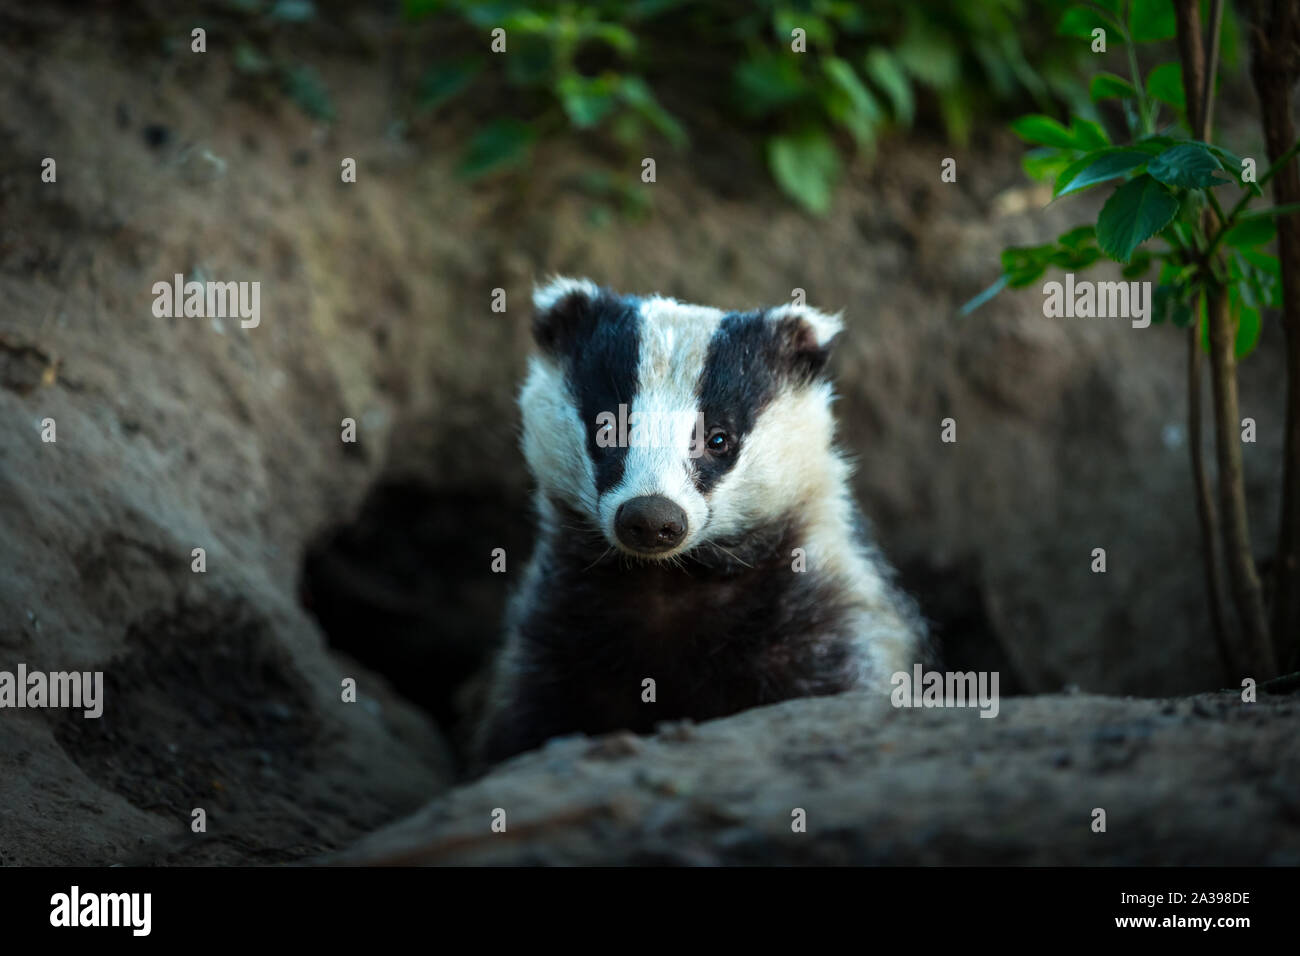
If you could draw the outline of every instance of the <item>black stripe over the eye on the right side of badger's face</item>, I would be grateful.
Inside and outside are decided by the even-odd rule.
[[[784,378],[779,329],[760,311],[729,312],[708,343],[696,385],[699,410],[705,428],[722,428],[737,449]],[[736,464],[736,454],[705,451],[693,464],[696,488],[707,494]]]

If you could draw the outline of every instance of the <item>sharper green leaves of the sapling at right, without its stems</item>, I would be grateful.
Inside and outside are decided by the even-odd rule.
[[[1235,59],[1236,30],[1231,21],[1231,16],[1225,20],[1225,61]],[[1244,358],[1258,342],[1262,310],[1282,303],[1278,258],[1264,246],[1275,235],[1274,219],[1295,209],[1251,211],[1251,202],[1262,195],[1261,185],[1273,170],[1258,183],[1243,183],[1238,156],[1187,138],[1180,64],[1158,64],[1143,78],[1138,46],[1167,42],[1176,33],[1170,0],[1101,0],[1072,7],[1058,29],[1083,38],[1091,36],[1095,27],[1118,35],[1126,44],[1132,75],[1095,75],[1087,108],[1119,100],[1128,122],[1128,142],[1112,144],[1105,130],[1079,112],[1069,117],[1069,125],[1036,113],[1020,117],[1011,129],[1039,147],[1027,153],[1024,168],[1036,178],[1054,178],[1053,200],[1117,185],[1095,226],[1071,229],[1053,243],[1004,250],[1001,277],[962,311],[974,311],[1001,289],[1032,285],[1048,268],[1086,269],[1105,255],[1124,265],[1122,273],[1128,280],[1149,274],[1158,264],[1154,323],[1186,326],[1199,321],[1208,290],[1226,291],[1236,325],[1236,354]],[[1166,133],[1182,127],[1183,137],[1154,133],[1161,109],[1173,112],[1174,125]],[[1231,212],[1225,212],[1216,191],[1234,185],[1240,195]],[[1206,207],[1216,213],[1209,220],[1212,226],[1202,216]],[[1143,247],[1157,237],[1166,248]],[[1208,349],[1208,323],[1200,324],[1202,346]]]

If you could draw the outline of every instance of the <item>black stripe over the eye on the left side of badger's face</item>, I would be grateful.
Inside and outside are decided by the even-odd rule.
[[[641,356],[640,303],[602,291],[578,311],[564,345],[566,378],[586,432],[588,454],[595,466],[595,489],[603,494],[623,480],[628,449],[625,445],[599,447],[595,419],[601,412],[611,412],[618,419],[620,403],[630,411]]]

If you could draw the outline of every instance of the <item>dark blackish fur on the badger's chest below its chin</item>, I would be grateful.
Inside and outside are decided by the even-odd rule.
[[[582,522],[560,514],[566,525]],[[545,585],[517,623],[514,702],[488,730],[482,757],[499,761],[559,734],[649,732],[660,721],[848,689],[849,600],[790,572],[800,540],[790,519],[724,544],[729,554],[705,546],[672,563],[555,536]],[[654,702],[641,698],[645,678]]]

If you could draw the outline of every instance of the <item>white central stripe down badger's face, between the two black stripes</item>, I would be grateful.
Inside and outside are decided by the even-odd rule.
[[[641,303],[641,352],[637,394],[629,411],[664,423],[666,436],[649,446],[629,447],[623,480],[601,499],[601,524],[611,540],[619,506],[646,494],[671,498],[686,512],[686,537],[676,550],[696,541],[708,518],[708,503],[692,481],[690,441],[696,427],[696,385],[705,367],[708,342],[724,312],[654,297]]]

